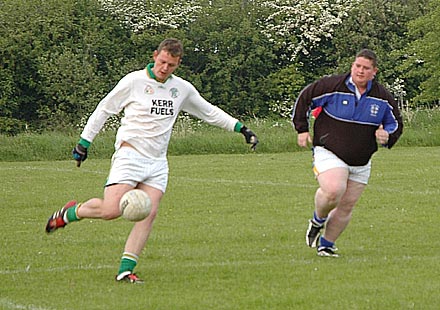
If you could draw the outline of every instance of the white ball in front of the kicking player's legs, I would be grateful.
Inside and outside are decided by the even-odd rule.
[[[119,201],[121,216],[129,221],[138,222],[151,212],[151,200],[146,192],[133,189],[126,192]]]

